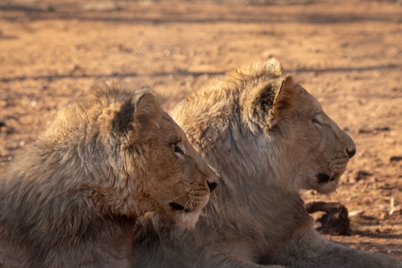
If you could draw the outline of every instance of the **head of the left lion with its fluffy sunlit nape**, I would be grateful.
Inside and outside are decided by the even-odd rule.
[[[216,173],[148,88],[117,87],[104,85],[62,107],[37,146],[75,174],[66,185],[98,213],[157,212],[193,227]]]

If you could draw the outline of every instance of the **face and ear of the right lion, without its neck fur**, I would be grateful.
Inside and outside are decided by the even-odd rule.
[[[236,76],[247,80],[240,97],[243,122],[252,132],[263,132],[269,138],[269,161],[282,178],[294,176],[286,180],[290,179],[295,190],[335,190],[356,152],[352,138],[313,96],[282,74],[276,59],[237,68]]]

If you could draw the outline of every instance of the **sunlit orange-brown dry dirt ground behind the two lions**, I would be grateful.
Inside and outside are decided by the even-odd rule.
[[[401,1],[0,0],[0,170],[94,83],[150,85],[170,109],[269,56],[357,145],[337,193],[303,193],[349,210],[352,236],[328,239],[402,260]]]

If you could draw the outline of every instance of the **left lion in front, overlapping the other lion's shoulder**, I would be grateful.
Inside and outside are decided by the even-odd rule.
[[[0,267],[128,267],[136,219],[194,227],[217,178],[149,88],[98,86],[0,175]]]

